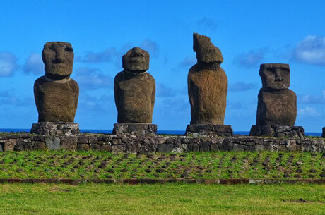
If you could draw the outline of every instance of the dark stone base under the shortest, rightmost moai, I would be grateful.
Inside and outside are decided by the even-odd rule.
[[[249,136],[267,136],[267,137],[294,137],[303,138],[305,135],[302,126],[286,125],[252,125]]]

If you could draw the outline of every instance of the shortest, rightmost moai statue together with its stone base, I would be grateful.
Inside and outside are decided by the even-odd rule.
[[[259,69],[263,87],[259,91],[256,125],[249,135],[303,137],[304,129],[295,125],[297,96],[289,90],[290,68],[283,63],[263,63]]]

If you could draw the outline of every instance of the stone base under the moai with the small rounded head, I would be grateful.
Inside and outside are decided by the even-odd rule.
[[[113,135],[150,135],[157,133],[157,125],[149,123],[115,123]]]

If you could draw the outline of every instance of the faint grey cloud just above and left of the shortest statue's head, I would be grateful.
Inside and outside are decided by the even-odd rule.
[[[258,66],[264,60],[268,48],[252,49],[235,57],[234,63],[238,66],[251,68]]]

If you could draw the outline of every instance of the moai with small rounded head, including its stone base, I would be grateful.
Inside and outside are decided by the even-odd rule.
[[[122,58],[124,70],[114,79],[117,123],[113,134],[148,135],[157,132],[151,124],[155,104],[155,79],[146,71],[149,53],[139,47],[127,51]]]

